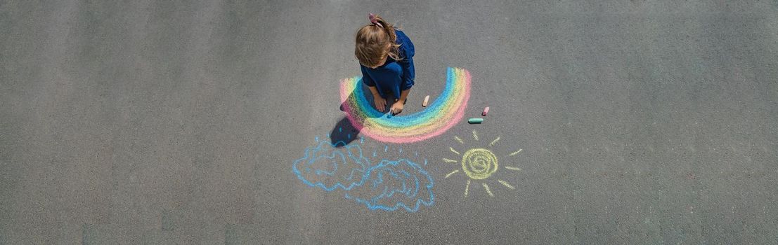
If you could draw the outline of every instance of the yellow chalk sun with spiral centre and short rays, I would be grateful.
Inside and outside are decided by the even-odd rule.
[[[473,139],[475,141],[478,141],[478,133],[475,133],[475,130],[473,131]],[[464,144],[464,140],[459,138],[459,136],[454,136],[454,140],[457,140],[457,142]],[[494,144],[499,141],[499,137],[492,140],[492,143],[489,143],[489,147],[494,147]],[[449,150],[453,152],[454,154],[461,155],[461,160],[452,160],[448,158],[443,158],[444,162],[447,163],[461,163],[462,169],[457,169],[455,171],[450,172],[449,174],[446,174],[446,178],[451,177],[451,175],[457,174],[459,172],[463,172],[465,176],[468,177],[468,182],[464,185],[464,196],[468,196],[468,191],[470,190],[470,184],[472,181],[479,181],[480,184],[483,186],[483,188],[486,190],[486,193],[489,194],[489,196],[494,196],[492,193],[492,189],[489,188],[489,184],[486,183],[487,179],[492,177],[492,174],[496,173],[497,170],[499,170],[499,164],[497,156],[492,153],[491,150],[487,150],[485,148],[475,148],[470,149],[464,152],[464,154],[460,154],[457,150],[454,150],[454,147],[449,147]],[[521,152],[521,149],[508,154],[507,157],[515,156],[516,154],[519,154]],[[511,167],[511,166],[505,166],[503,167],[510,171],[521,171],[518,167]],[[497,182],[500,185],[504,185],[506,188],[510,188],[511,190],[516,189],[513,187],[513,185],[510,185],[508,182],[503,181],[501,179],[497,179]]]

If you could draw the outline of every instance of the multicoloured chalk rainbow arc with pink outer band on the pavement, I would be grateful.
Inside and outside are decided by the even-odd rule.
[[[427,109],[391,118],[370,105],[362,78],[343,79],[340,95],[349,121],[364,135],[383,142],[412,143],[439,136],[462,119],[470,99],[470,80],[469,71],[448,67],[446,87]]]

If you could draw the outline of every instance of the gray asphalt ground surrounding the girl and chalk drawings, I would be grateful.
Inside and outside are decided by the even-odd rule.
[[[403,113],[464,67],[485,122],[351,132],[368,12],[415,43]],[[778,243],[775,1],[3,1],[0,29],[0,243]],[[303,184],[340,128],[434,204]],[[465,197],[442,158],[496,137],[515,189]]]

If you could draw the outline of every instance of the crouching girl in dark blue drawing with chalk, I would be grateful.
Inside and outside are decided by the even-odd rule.
[[[415,76],[413,43],[408,36],[371,13],[370,25],[356,32],[354,53],[362,69],[362,81],[373,92],[376,109],[384,112],[387,95],[392,95],[389,112],[402,112]]]

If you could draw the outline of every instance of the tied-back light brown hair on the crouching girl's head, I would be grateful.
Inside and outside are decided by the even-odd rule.
[[[370,25],[362,26],[356,31],[354,55],[363,66],[375,67],[386,56],[401,60],[399,47],[394,25],[377,15],[371,18]]]

